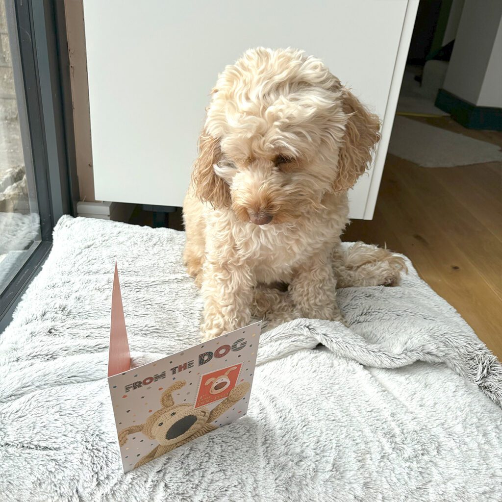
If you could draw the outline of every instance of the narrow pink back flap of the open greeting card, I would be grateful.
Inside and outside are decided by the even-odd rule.
[[[108,376],[122,373],[131,368],[131,353],[127,339],[126,320],[118,282],[117,264],[113,276],[113,291],[111,293],[111,319],[110,319],[110,349],[108,355]]]

